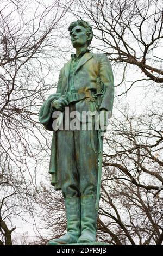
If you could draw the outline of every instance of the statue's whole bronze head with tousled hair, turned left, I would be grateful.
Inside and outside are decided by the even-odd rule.
[[[91,44],[93,31],[91,25],[83,20],[77,20],[68,27],[70,31],[71,41],[74,48]]]

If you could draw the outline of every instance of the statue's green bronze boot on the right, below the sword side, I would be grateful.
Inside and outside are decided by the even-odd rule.
[[[77,243],[92,243],[96,240],[98,211],[95,210],[96,195],[81,197],[82,235]]]

